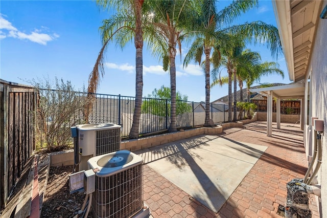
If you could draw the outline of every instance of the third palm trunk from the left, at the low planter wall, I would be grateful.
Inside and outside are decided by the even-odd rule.
[[[204,126],[210,124],[210,52],[211,48],[205,48],[205,119]]]

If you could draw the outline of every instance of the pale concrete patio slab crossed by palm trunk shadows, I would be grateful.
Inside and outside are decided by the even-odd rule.
[[[160,175],[217,213],[266,148],[202,135],[136,153]]]

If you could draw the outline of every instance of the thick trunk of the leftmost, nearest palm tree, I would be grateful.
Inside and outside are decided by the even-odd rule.
[[[135,108],[132,128],[129,133],[130,139],[138,138],[139,118],[141,117],[142,93],[143,93],[143,31],[142,31],[142,4],[143,1],[135,0]]]

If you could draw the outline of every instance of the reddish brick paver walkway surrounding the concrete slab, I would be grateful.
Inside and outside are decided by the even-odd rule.
[[[279,205],[286,201],[286,183],[303,178],[307,170],[303,134],[299,125],[273,125],[266,136],[266,122],[253,122],[243,128],[224,129],[219,137],[268,148],[230,195],[218,213],[209,210],[188,193],[144,165],[144,200],[153,217],[281,217]],[[313,217],[319,217],[315,201]]]

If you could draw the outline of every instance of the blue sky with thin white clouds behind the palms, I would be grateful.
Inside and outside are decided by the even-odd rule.
[[[230,1],[220,1],[221,10]],[[76,90],[87,86],[101,48],[99,27],[110,13],[100,10],[95,1],[1,1],[0,73],[1,79],[28,84],[35,78],[70,80]],[[276,26],[271,1],[260,1],[259,8],[242,15],[237,23],[262,20]],[[189,45],[182,45],[182,58]],[[248,46],[260,52],[262,60],[271,61],[265,45]],[[143,96],[161,85],[170,86],[169,72],[161,61],[143,51]],[[290,83],[283,54],[277,61],[284,70],[280,76],[263,77],[261,82]],[[176,89],[190,101],[204,101],[204,74],[197,65],[183,69],[176,57]],[[224,70],[222,75],[226,75]],[[114,44],[106,53],[105,76],[98,93],[135,96],[135,47],[133,42],[121,50]],[[227,95],[227,85],[211,89],[211,101]]]

